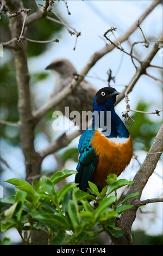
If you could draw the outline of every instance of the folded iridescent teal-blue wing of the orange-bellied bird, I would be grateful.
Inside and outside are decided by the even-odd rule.
[[[79,183],[80,190],[86,191],[88,181],[91,180],[95,170],[98,156],[96,156],[93,147],[91,146],[92,130],[85,130],[79,140],[79,163],[77,166],[77,174],[75,182]]]

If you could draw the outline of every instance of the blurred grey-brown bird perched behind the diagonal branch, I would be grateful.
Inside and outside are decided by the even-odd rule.
[[[64,58],[54,59],[46,69],[55,71],[56,80],[50,95],[51,98],[67,86],[72,81],[74,74],[77,74],[77,70],[72,63]],[[66,99],[62,100],[60,104],[55,107],[55,109],[64,114],[65,107],[69,107],[70,112],[78,111],[82,117],[82,111],[92,111],[93,100],[96,93],[97,89],[86,80],[83,80]]]

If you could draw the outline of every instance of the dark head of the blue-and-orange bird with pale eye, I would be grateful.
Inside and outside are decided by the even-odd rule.
[[[93,111],[104,110],[114,106],[116,102],[116,96],[120,94],[112,87],[104,87],[95,95],[95,100],[93,102]]]

